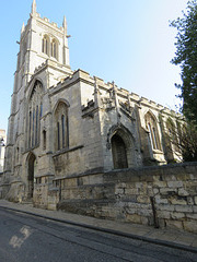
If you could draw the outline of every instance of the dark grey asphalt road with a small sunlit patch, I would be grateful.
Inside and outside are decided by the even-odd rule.
[[[0,210],[0,262],[182,262],[197,253]]]

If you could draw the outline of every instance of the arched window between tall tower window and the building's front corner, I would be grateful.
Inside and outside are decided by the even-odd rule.
[[[60,102],[55,111],[55,150],[69,147],[68,106]]]

